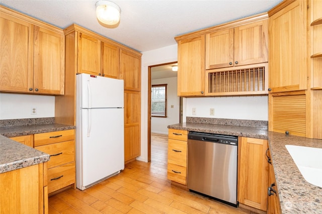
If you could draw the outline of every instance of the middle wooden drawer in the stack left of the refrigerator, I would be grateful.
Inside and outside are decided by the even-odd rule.
[[[74,141],[37,146],[35,149],[50,155],[50,160],[47,162],[48,169],[74,161]]]

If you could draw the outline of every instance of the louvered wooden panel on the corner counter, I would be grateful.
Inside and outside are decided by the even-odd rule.
[[[305,94],[273,96],[273,131],[305,137]]]

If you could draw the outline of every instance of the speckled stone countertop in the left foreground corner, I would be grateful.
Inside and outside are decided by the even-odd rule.
[[[0,136],[0,173],[49,161],[49,155]]]

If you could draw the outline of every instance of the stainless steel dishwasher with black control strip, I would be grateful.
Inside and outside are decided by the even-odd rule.
[[[188,189],[236,207],[237,146],[235,136],[189,132]]]

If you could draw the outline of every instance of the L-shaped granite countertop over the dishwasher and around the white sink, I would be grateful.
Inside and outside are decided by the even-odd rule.
[[[322,140],[268,132],[267,127],[188,122],[169,125],[168,128],[268,139],[282,213],[322,213],[322,188],[308,183],[303,178],[285,147],[285,145],[297,145],[322,148]]]

